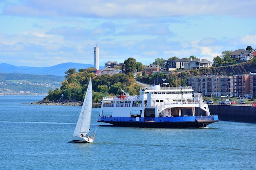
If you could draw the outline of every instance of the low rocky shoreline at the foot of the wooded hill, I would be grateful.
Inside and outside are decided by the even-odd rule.
[[[61,106],[82,106],[83,101],[75,101],[75,100],[52,100],[52,101],[45,101],[41,100],[39,102],[33,102],[30,103],[31,105],[61,105]],[[92,103],[93,108],[100,108],[101,103],[99,102],[93,102]]]

